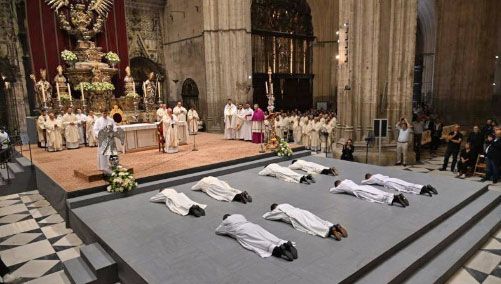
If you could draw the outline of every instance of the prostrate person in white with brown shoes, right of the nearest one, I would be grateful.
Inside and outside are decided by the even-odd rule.
[[[333,237],[337,241],[341,237],[348,237],[348,232],[339,224],[332,224],[325,221],[317,215],[290,204],[272,204],[271,211],[263,215],[266,220],[282,221],[291,224],[294,229],[308,233],[310,235],[320,236],[322,238]]]

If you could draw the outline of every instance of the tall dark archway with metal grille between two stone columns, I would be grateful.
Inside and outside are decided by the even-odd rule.
[[[306,0],[253,0],[252,73],[254,103],[266,106],[268,68],[275,109],[306,110],[313,103],[311,10]]]

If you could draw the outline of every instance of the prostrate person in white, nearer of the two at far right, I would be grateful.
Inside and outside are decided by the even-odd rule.
[[[337,180],[334,187],[330,189],[332,193],[347,193],[369,202],[393,205],[399,203],[402,207],[409,206],[409,201],[403,194],[391,194],[370,185],[358,185],[352,180]]]

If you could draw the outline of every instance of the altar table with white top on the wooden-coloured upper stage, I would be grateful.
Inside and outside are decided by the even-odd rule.
[[[125,132],[125,142],[117,141],[118,151],[122,153],[151,150],[158,147],[157,124],[138,123],[119,125]]]

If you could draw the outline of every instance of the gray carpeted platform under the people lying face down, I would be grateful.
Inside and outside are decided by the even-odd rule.
[[[150,203],[154,192],[148,192],[92,205],[83,205],[84,201],[79,200],[83,206],[71,210],[71,225],[80,227],[74,229],[86,243],[98,241],[112,252],[122,283],[354,282],[364,281],[364,276],[370,277],[383,269],[392,256],[402,257],[405,265],[387,266],[395,267],[388,279],[372,274],[375,278],[371,278],[371,283],[384,283],[402,275],[411,277],[419,268],[425,269],[426,262],[441,257],[447,245],[451,247],[460,241],[472,226],[492,214],[500,217],[496,211],[499,193],[488,192],[481,183],[332,159],[304,159],[335,165],[339,179],[359,182],[365,173],[378,172],[433,184],[439,195],[407,195],[409,207],[388,206],[329,193],[337,177],[317,176],[317,183],[309,186],[290,184],[258,176],[262,169],[258,167],[220,177],[233,187],[247,190],[254,199],[250,204],[219,202],[191,191],[194,184],[191,179],[184,184],[177,180],[176,190],[208,205],[205,217],[175,215],[164,204]],[[163,186],[164,183],[159,183],[158,189]],[[345,225],[350,235],[336,242],[301,233],[285,223],[266,221],[262,215],[272,203],[290,203],[310,210]],[[278,237],[295,241],[299,259],[291,263],[276,258],[261,259],[234,240],[217,236],[214,230],[226,213],[243,214]],[[490,222],[484,227],[489,226],[492,229],[497,223]],[[482,232],[485,235],[490,230]],[[420,255],[400,254],[419,247],[423,248]],[[464,248],[469,251],[471,246]],[[449,268],[451,265],[447,264]]]

